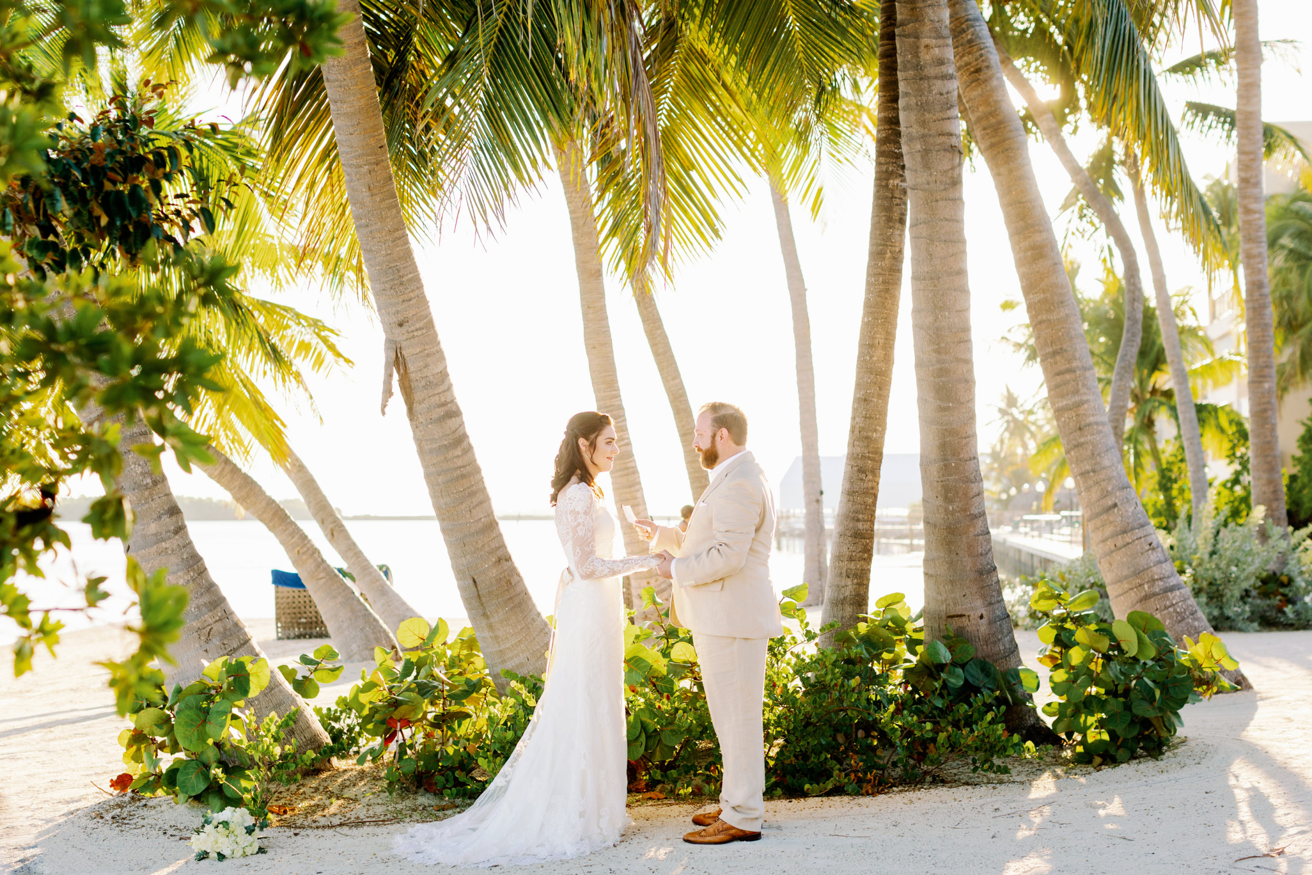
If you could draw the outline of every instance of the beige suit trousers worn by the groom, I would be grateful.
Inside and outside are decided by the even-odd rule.
[[[765,701],[766,638],[726,638],[693,632],[702,666],[706,704],[720,741],[724,781],[720,820],[760,832],[765,817],[765,741],[761,710]]]

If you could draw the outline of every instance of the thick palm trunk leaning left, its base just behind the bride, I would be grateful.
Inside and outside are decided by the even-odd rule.
[[[518,674],[543,670],[551,630],[506,550],[455,400],[396,197],[359,0],[342,0],[338,9],[352,18],[337,31],[344,54],[323,66],[324,88],[356,236],[387,337],[384,367],[388,374],[395,369],[400,378],[461,601],[492,676],[504,683],[501,669]]]

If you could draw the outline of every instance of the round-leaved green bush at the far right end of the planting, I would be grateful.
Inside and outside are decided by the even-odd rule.
[[[1131,611],[1103,621],[1097,590],[1072,593],[1056,581],[1030,601],[1047,618],[1039,627],[1039,662],[1051,669],[1056,702],[1043,706],[1052,729],[1075,744],[1076,762],[1126,762],[1143,752],[1158,757],[1185,725],[1179,710],[1235,689],[1221,669],[1239,666],[1215,635],[1177,648],[1156,617]]]

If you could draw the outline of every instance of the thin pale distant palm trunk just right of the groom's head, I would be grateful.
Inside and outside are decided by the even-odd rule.
[[[792,218],[779,184],[770,177],[770,202],[774,224],[779,230],[783,273],[789,279],[789,302],[792,304],[792,345],[798,359],[798,418],[802,425],[802,506],[806,534],[802,542],[802,580],[811,584],[806,606],[824,601],[828,577],[824,537],[824,487],[820,480],[820,430],[816,426],[816,373],[811,361],[811,316],[807,314],[807,283],[802,278],[802,261],[792,236]]]

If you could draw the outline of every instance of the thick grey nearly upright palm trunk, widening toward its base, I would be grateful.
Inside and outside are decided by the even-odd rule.
[[[925,638],[942,638],[951,628],[1005,672],[1022,661],[993,563],[979,467],[962,139],[947,0],[899,0],[897,84],[911,206],[912,335],[925,496]],[[1026,735],[1051,735],[1033,704],[1009,707],[1006,722]]]

